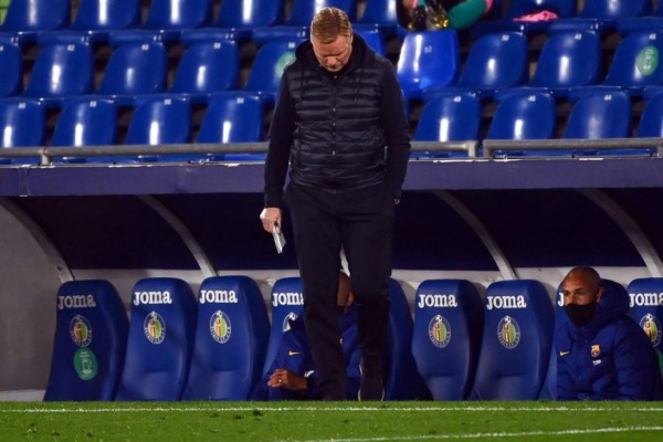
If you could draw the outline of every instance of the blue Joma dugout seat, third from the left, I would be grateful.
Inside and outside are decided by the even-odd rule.
[[[196,346],[183,400],[246,400],[262,377],[270,319],[257,284],[215,276],[198,294]]]

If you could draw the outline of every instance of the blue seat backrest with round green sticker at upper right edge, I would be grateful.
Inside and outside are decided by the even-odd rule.
[[[638,31],[618,44],[603,84],[644,87],[663,83],[663,31]]]

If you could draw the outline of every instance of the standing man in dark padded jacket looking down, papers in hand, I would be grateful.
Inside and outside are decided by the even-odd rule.
[[[359,399],[383,398],[393,213],[409,155],[393,66],[352,33],[344,11],[322,9],[311,24],[311,40],[297,48],[283,73],[260,218],[267,232],[278,232],[282,202],[290,209],[324,400],[346,394],[336,308],[341,248],[359,309]],[[291,180],[283,196],[288,160]]]

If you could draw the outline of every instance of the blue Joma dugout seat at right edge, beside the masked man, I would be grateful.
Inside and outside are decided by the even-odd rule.
[[[659,357],[659,368],[663,375],[663,278],[642,277],[631,281],[627,287],[630,297],[629,316],[633,318],[646,336]]]

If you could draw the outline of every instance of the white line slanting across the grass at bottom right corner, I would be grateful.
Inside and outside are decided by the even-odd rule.
[[[560,436],[575,434],[599,434],[599,433],[631,433],[636,431],[663,431],[663,427],[627,427],[627,428],[603,428],[603,429],[583,429],[583,430],[559,430],[559,431],[525,431],[517,433],[472,433],[472,434],[424,434],[424,435],[399,435],[399,436],[379,436],[379,438],[357,438],[357,439],[307,439],[306,442],[389,442],[389,441],[425,441],[425,440],[462,440],[462,439],[506,439],[506,438],[532,438],[535,435]],[[285,441],[282,441],[285,442]],[[291,441],[296,442],[296,441]]]

